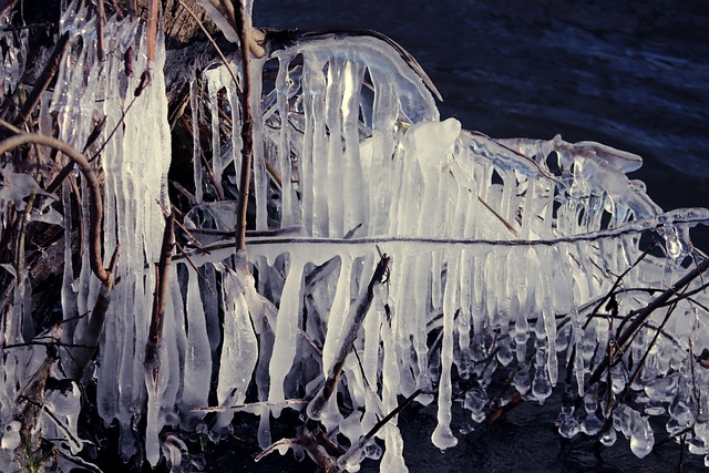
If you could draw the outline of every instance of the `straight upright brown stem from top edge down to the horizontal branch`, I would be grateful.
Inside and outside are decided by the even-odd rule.
[[[254,116],[251,113],[251,74],[249,72],[250,54],[246,44],[249,44],[249,28],[244,8],[244,1],[238,0],[239,8],[236,12],[235,29],[242,42],[242,181],[239,183],[239,203],[236,220],[236,249],[246,249],[246,210],[248,208],[248,193],[251,181],[251,156],[254,148]]]

